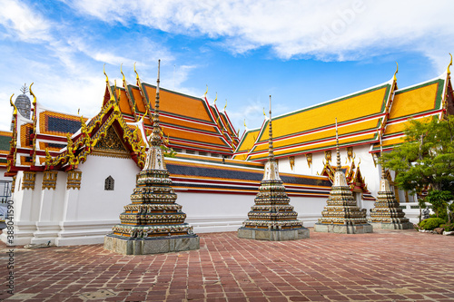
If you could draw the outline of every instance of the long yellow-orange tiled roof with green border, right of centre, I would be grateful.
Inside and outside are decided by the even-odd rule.
[[[358,93],[274,117],[274,155],[279,158],[334,149],[336,118],[341,146],[376,141],[377,131],[385,121],[395,87],[396,83],[391,79]],[[253,144],[251,135],[242,137],[240,148],[237,149],[238,156],[243,157],[244,151],[250,149],[247,160],[262,161],[267,158],[268,122],[263,123],[258,139]]]

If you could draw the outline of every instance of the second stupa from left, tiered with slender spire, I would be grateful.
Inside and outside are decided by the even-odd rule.
[[[298,213],[290,205],[283,181],[279,177],[277,162],[272,147],[271,95],[268,139],[268,161],[255,204],[248,213],[248,219],[238,229],[238,237],[243,239],[262,239],[271,241],[309,238],[309,229],[296,219]]]

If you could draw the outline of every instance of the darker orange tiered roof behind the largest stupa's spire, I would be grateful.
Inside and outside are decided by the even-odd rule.
[[[150,132],[156,87],[139,82],[112,90],[117,91],[116,99],[120,94],[119,107],[124,118],[136,121],[146,113],[144,124]],[[205,98],[163,88],[160,88],[160,100],[160,124],[169,147],[232,155],[239,140],[225,112],[215,113]]]

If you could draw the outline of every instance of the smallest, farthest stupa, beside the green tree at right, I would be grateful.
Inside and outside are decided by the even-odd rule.
[[[380,140],[380,153],[383,148]],[[410,220],[399,206],[394,193],[390,189],[390,181],[386,178],[385,168],[381,164],[380,190],[374,208],[370,209],[370,223],[377,229],[412,229]]]

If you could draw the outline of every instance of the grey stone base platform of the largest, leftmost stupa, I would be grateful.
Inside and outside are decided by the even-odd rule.
[[[197,235],[187,235],[155,239],[123,239],[106,235],[104,248],[123,255],[162,254],[199,249],[200,238]]]

